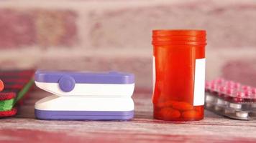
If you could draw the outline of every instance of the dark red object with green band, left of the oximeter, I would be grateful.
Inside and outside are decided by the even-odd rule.
[[[0,71],[1,82],[4,85],[4,90],[0,92],[0,117],[10,117],[17,113],[14,107],[29,92],[34,83],[33,76],[33,70]]]

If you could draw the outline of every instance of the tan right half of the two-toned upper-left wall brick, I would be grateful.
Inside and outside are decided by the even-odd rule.
[[[34,16],[40,46],[73,46],[78,42],[74,11],[41,9],[35,11]]]

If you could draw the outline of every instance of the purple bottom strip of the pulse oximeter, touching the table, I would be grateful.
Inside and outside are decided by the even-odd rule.
[[[42,120],[129,120],[134,111],[95,112],[95,111],[48,111],[35,109],[35,117]]]

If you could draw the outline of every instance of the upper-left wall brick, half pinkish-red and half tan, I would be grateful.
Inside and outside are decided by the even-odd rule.
[[[77,14],[69,10],[0,10],[0,48],[73,46]]]

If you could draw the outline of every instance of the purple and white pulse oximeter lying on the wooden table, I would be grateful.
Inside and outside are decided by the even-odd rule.
[[[52,93],[36,102],[37,119],[129,120],[134,117],[134,74],[36,71],[35,84]]]

